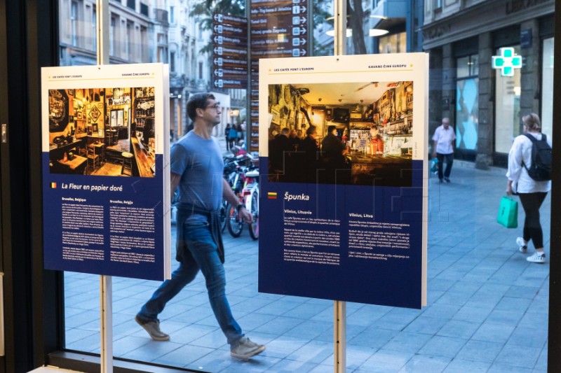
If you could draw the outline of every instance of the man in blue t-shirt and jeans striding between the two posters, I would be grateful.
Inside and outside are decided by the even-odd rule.
[[[197,93],[187,103],[187,114],[194,129],[182,137],[170,151],[171,194],[179,187],[177,207],[177,255],[180,266],[171,279],[164,281],[142,306],[135,320],[155,341],[170,336],[160,330],[158,314],[165,304],[195,278],[205,276],[210,306],[230,344],[231,356],[248,360],[264,351],[265,346],[245,337],[231,314],[226,297],[224,248],[218,211],[224,197],[250,223],[252,216],[222,177],[224,161],[212,129],[220,122],[220,106],[209,93]]]

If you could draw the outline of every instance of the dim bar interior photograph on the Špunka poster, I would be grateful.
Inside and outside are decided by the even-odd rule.
[[[411,186],[413,82],[269,85],[269,181]]]

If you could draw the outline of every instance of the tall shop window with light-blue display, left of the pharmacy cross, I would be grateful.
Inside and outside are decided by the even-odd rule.
[[[478,55],[457,59],[456,148],[478,148]]]

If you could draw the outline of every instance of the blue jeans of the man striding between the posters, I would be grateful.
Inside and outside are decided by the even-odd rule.
[[[177,216],[178,224],[180,216]],[[183,239],[182,239],[183,238]],[[170,280],[165,280],[154,292],[150,300],[137,314],[141,321],[157,321],[158,314],[182,288],[193,281],[199,269],[205,276],[210,307],[215,318],[232,346],[243,337],[240,325],[236,323],[226,298],[226,276],[220,261],[217,246],[212,239],[208,223],[184,223],[177,226],[177,250],[187,244],[180,266],[175,269]]]

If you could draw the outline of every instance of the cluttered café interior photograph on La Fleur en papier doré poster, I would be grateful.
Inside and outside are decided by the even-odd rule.
[[[49,90],[51,174],[153,177],[154,87]]]

